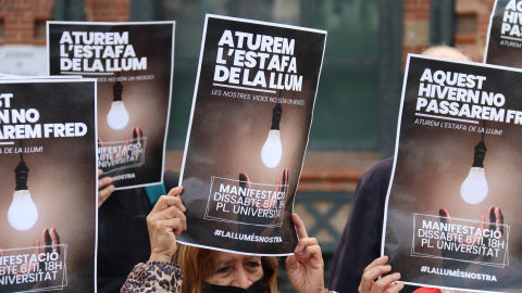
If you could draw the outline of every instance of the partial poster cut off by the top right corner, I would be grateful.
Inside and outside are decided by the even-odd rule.
[[[484,62],[522,68],[522,1],[496,0]]]

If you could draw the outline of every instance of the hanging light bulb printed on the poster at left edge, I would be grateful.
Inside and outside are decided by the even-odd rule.
[[[22,142],[21,142],[22,146]],[[21,162],[14,169],[16,188],[13,193],[13,202],[9,207],[8,219],[11,226],[20,231],[25,231],[35,226],[38,219],[38,209],[30,198],[27,188],[27,177],[29,168],[24,163],[23,153],[20,153]]]

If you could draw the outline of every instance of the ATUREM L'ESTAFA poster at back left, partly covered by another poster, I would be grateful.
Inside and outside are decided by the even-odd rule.
[[[50,75],[98,81],[98,167],[116,190],[163,182],[174,22],[48,22]]]

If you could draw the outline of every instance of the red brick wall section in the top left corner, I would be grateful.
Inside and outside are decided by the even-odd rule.
[[[4,25],[0,44],[45,44],[45,39],[35,39],[35,22],[49,20],[53,5],[54,0],[0,0],[0,21]]]

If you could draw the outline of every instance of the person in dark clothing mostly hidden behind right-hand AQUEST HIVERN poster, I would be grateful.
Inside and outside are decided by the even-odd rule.
[[[432,47],[422,54],[442,59],[470,61],[470,59],[462,52],[447,46]],[[366,283],[364,284],[364,280],[362,279],[369,264],[370,266],[378,267],[377,270],[382,271],[381,273],[372,275],[371,277],[378,277],[383,273],[391,271],[391,268],[389,267],[384,268],[386,263],[382,263],[384,258],[380,258],[380,256],[384,206],[388,191],[393,163],[393,158],[387,158],[377,163],[375,166],[364,173],[359,180],[353,194],[350,215],[346,222],[339,243],[337,244],[332,263],[330,282],[330,288],[332,290],[353,293],[358,292],[361,285],[362,289],[365,290],[359,291],[361,293],[398,292],[394,291],[398,286],[391,284],[395,282],[395,280],[390,281],[389,278],[381,279],[385,280],[383,282],[375,282],[375,284],[378,285],[386,283],[388,286],[383,285],[382,288],[374,288],[373,290],[369,288],[373,288],[371,283],[373,283],[374,280],[368,277],[365,280]],[[374,263],[374,259],[376,259],[375,262],[377,263]],[[387,271],[384,271],[384,269]],[[375,270],[373,272],[375,272]],[[398,275],[394,276],[397,277]],[[393,289],[390,289],[389,285],[391,285]],[[415,289],[417,288],[414,286],[405,285],[403,290],[400,292],[412,292]]]

